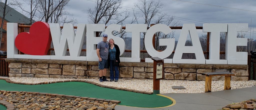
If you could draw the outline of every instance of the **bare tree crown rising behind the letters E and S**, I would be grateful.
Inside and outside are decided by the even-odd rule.
[[[121,11],[122,0],[97,0],[97,4],[93,9],[89,8],[88,22],[91,24],[119,24],[123,25],[123,22],[130,17],[130,12],[127,10]],[[125,31],[121,33],[115,32],[114,35],[122,37],[125,35]],[[99,32],[101,35],[101,32]]]

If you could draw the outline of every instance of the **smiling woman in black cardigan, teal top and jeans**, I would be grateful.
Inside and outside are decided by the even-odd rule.
[[[118,82],[119,78],[119,63],[120,63],[120,49],[117,45],[115,45],[115,42],[113,39],[109,39],[109,58],[108,62],[110,65],[110,81]],[[115,70],[115,78],[114,78],[114,70]]]

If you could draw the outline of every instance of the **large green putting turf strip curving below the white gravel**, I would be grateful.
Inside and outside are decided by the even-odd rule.
[[[172,104],[172,101],[159,95],[148,95],[135,92],[121,91],[99,87],[84,82],[63,82],[43,85],[22,85],[7,83],[0,80],[0,90],[6,91],[28,91],[43,92],[52,94],[75,95],[82,97],[103,98],[109,100],[119,100],[119,105],[134,107],[163,107]]]

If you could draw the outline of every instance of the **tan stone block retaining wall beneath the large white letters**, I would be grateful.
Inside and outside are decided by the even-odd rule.
[[[98,61],[6,59],[10,77],[36,78],[99,78]],[[200,73],[232,72],[231,80],[248,80],[248,65],[232,64],[164,64],[164,79],[205,80]],[[107,70],[106,76],[109,77]],[[120,78],[153,79],[153,63],[121,62]],[[212,80],[224,80],[225,76],[214,76]]]

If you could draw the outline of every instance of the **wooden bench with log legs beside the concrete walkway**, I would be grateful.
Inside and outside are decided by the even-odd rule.
[[[211,72],[211,73],[201,73],[205,75],[205,92],[211,92],[211,78],[212,76],[225,76],[224,90],[230,90],[230,80],[234,73],[229,72]]]

